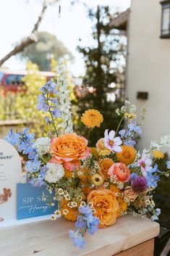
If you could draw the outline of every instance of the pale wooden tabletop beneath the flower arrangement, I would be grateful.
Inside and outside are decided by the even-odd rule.
[[[85,249],[69,239],[75,223],[59,218],[0,227],[1,256],[152,256],[159,225],[140,215],[125,215],[116,225],[86,235]]]

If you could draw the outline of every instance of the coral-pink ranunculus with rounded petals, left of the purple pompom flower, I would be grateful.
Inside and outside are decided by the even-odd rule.
[[[116,176],[118,181],[127,182],[130,178],[130,170],[123,162],[116,162],[109,168],[108,174],[110,176]]]

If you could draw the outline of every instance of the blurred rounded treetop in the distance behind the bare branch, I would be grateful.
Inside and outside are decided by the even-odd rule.
[[[55,59],[60,59],[68,55],[72,59],[72,54],[59,41],[56,36],[48,32],[38,32],[38,41],[25,49],[20,54],[21,59],[29,59],[31,62],[38,65],[40,70],[50,70],[51,56]]]

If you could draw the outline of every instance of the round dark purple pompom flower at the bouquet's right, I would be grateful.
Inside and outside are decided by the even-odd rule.
[[[137,176],[134,180],[132,180],[131,186],[135,193],[141,194],[148,189],[148,182],[145,177]]]

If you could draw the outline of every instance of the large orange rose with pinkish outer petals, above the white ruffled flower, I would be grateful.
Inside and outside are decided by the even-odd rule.
[[[67,170],[74,170],[90,154],[88,140],[76,133],[65,133],[51,141],[51,162],[63,164]]]

